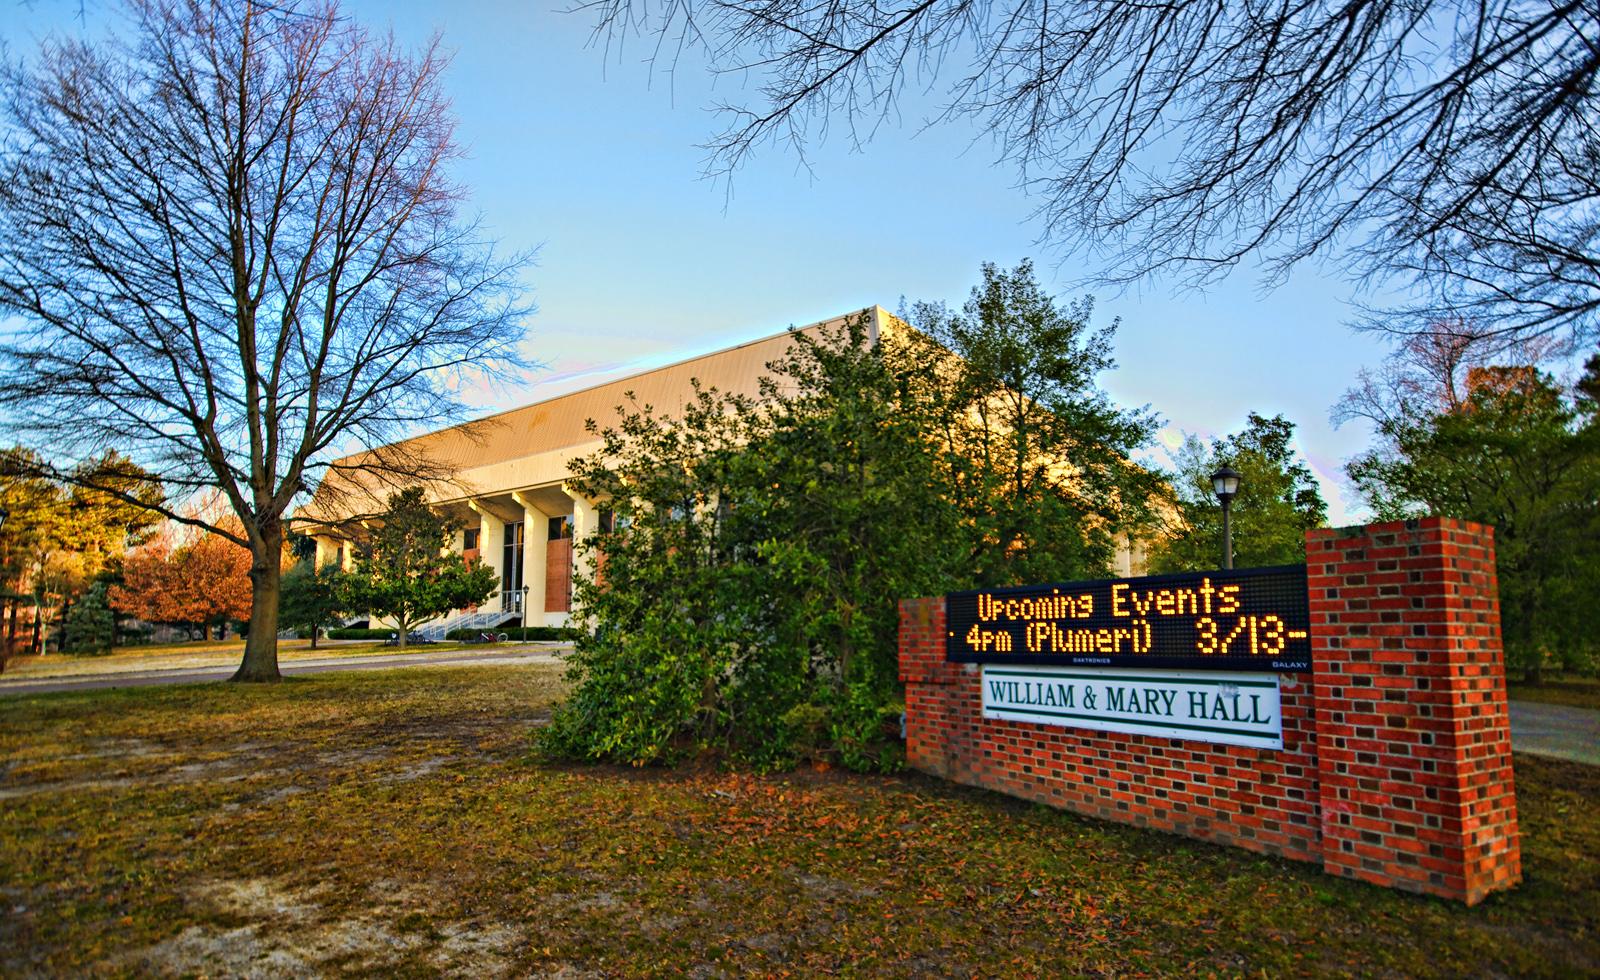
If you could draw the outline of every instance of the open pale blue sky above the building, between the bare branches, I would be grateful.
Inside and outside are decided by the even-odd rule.
[[[27,50],[46,30],[82,29],[77,11],[59,0],[10,5],[0,34],[13,51]],[[651,72],[642,43],[608,58],[590,45],[582,14],[538,2],[362,2],[346,13],[408,42],[443,34],[470,207],[504,247],[539,248],[528,354],[544,368],[528,384],[475,396],[485,408],[872,303],[958,304],[982,261],[1034,256],[1058,295],[1082,291],[1067,287],[1093,272],[1058,269],[1037,247],[1035,202],[974,130],[920,127],[938,93],[907,98],[902,118],[862,152],[830,139],[811,147],[808,171],[771,147],[730,187],[701,178],[698,144],[718,128],[707,106],[738,101],[754,82],[714,86],[693,67]],[[1165,442],[1178,431],[1234,431],[1251,410],[1282,412],[1299,426],[1331,519],[1360,516],[1339,471],[1368,431],[1333,429],[1328,408],[1382,357],[1376,338],[1346,327],[1349,299],[1370,296],[1307,266],[1267,293],[1240,269],[1206,293],[1157,282],[1096,298],[1099,322],[1122,319],[1120,367],[1104,386],[1123,404],[1154,407],[1168,423]]]

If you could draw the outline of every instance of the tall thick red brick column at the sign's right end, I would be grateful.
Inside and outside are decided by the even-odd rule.
[[[1494,530],[1306,535],[1323,866],[1477,903],[1522,879]]]

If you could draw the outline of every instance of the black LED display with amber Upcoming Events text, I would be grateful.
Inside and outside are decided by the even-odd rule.
[[[957,663],[1310,673],[1304,565],[976,589],[946,610]]]

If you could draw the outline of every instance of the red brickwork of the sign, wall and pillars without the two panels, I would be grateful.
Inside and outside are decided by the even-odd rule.
[[[1283,674],[1283,748],[982,717],[944,599],[901,602],[914,769],[1066,810],[1475,903],[1520,881],[1493,528],[1307,535],[1314,673]]]

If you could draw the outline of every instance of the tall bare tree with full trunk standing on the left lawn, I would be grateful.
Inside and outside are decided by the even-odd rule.
[[[437,40],[400,51],[331,3],[130,21],[0,75],[0,412],[56,474],[114,447],[163,514],[250,548],[234,677],[270,681],[288,508],[342,448],[453,420],[454,383],[517,363],[525,258],[458,218]],[[213,487],[238,524],[184,509]]]

